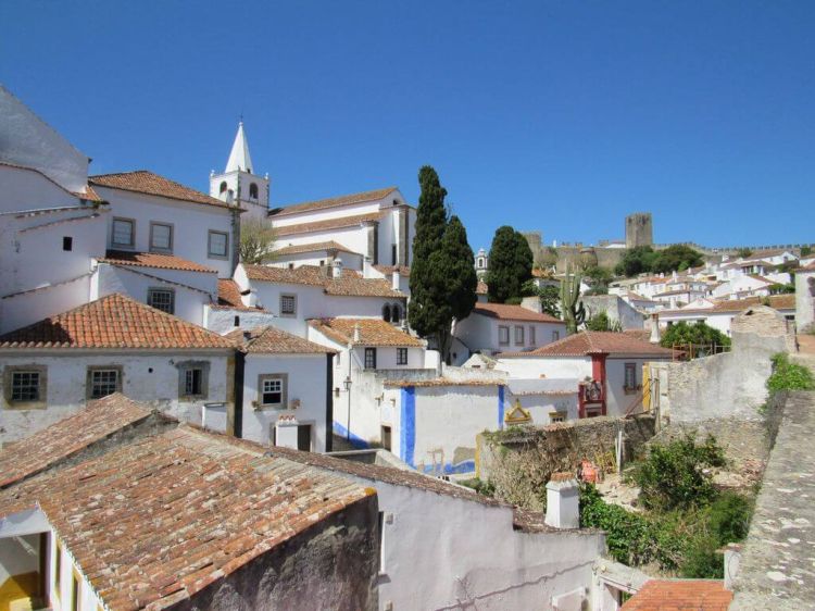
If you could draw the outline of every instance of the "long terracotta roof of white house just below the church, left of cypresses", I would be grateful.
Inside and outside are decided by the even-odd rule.
[[[331,278],[328,274],[331,270],[328,265],[300,265],[293,270],[288,267],[272,267],[268,265],[243,264],[247,277],[250,280],[302,284],[309,286],[322,286],[326,295],[339,295],[349,297],[406,297],[399,290],[393,290],[390,283],[383,278],[363,278],[353,270],[342,270],[339,278]]]

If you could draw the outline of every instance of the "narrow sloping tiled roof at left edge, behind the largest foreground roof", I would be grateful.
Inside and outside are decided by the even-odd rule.
[[[0,449],[0,488],[36,475],[97,441],[147,420],[150,411],[116,392]]]

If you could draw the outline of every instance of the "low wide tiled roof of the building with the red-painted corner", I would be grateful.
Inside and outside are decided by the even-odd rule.
[[[670,358],[673,350],[642,341],[626,333],[581,331],[530,352],[504,352],[501,358],[588,357],[595,353],[644,354]]]

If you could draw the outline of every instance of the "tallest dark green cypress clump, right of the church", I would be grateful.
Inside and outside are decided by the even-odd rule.
[[[418,173],[422,194],[416,211],[408,322],[431,338],[448,361],[453,320],[465,319],[476,301],[478,278],[467,234],[456,216],[447,219],[439,176],[429,165]]]

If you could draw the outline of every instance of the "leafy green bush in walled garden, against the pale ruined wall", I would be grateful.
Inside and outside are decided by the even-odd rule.
[[[715,497],[709,466],[722,466],[724,452],[709,436],[697,445],[690,435],[666,445],[654,444],[648,457],[634,470],[642,489],[640,499],[648,509],[669,511],[706,504]]]

